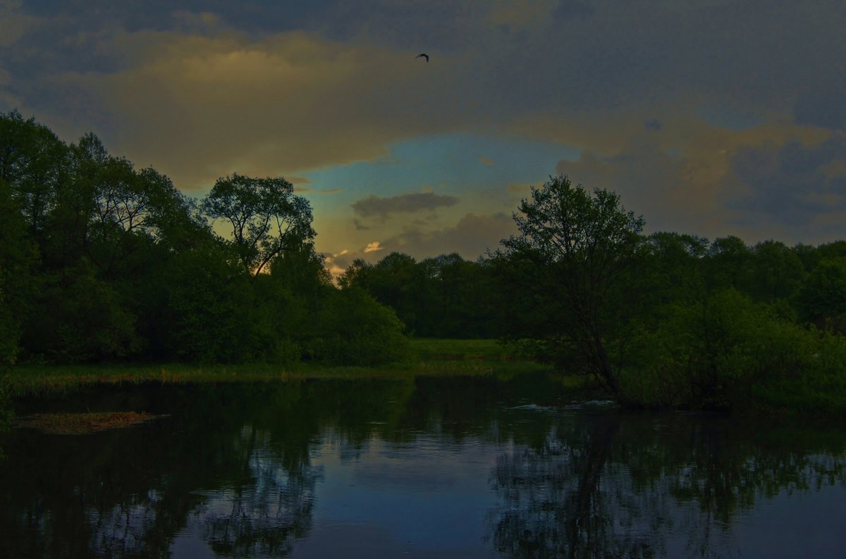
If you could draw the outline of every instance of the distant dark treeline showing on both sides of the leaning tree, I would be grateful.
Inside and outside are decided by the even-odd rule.
[[[737,236],[709,241],[661,231],[642,242],[639,275],[629,279],[629,308],[618,310],[621,317],[635,304],[647,306],[642,316],[694,294],[733,290],[790,322],[846,334],[846,241],[788,247],[769,240],[749,246]],[[527,285],[509,274],[514,269],[496,252],[475,261],[454,252],[420,261],[391,252],[376,263],[355,260],[338,283],[360,287],[393,308],[407,334],[519,339],[507,323],[514,323],[531,290],[523,292]],[[519,328],[548,325],[537,320],[535,310]]]

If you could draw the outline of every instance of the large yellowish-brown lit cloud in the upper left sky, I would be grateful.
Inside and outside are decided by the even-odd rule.
[[[114,128],[133,131],[107,144],[188,189],[233,171],[275,176],[371,160],[474,112],[467,99],[433,105],[461,70],[446,59],[426,73],[409,52],[301,31],[253,40],[145,30],[120,35],[114,48],[124,53],[117,71],[52,78],[72,94],[55,111],[77,114],[77,102],[107,111]]]

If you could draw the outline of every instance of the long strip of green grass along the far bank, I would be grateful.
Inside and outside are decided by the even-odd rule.
[[[387,366],[325,366],[304,363],[280,366],[100,364],[21,365],[6,375],[12,398],[68,393],[81,386],[139,383],[284,382],[305,378],[398,377],[404,375],[511,375],[545,369],[521,360],[492,339],[412,339],[409,359]]]

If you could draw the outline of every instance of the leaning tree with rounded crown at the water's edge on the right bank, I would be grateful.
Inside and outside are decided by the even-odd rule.
[[[519,263],[515,277],[530,304],[510,337],[539,342],[559,366],[580,358],[586,372],[623,399],[607,343],[627,296],[624,279],[643,244],[643,218],[626,212],[617,194],[588,193],[567,176],[532,187],[519,212],[519,235],[504,239],[497,252]]]

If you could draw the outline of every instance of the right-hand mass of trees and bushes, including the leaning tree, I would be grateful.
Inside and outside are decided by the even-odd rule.
[[[393,253],[343,285],[421,335],[496,336],[630,406],[846,413],[846,242],[645,235],[566,176],[514,219],[484,260]]]

